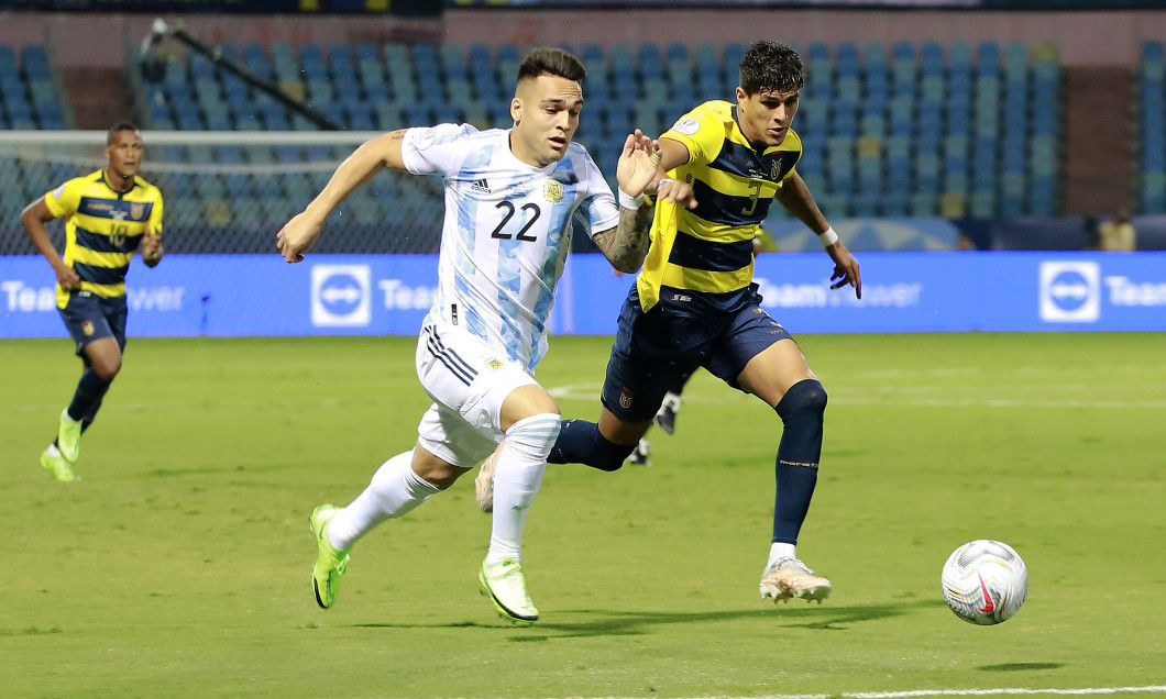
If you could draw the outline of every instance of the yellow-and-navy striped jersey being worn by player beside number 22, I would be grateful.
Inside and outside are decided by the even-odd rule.
[[[735,105],[715,100],[684,114],[661,139],[688,148],[688,163],[668,176],[691,185],[697,207],[659,202],[652,246],[637,280],[646,311],[660,288],[701,294],[745,289],[753,280],[753,236],[770,204],[801,157],[791,128],[780,146],[754,149],[735,118]]]

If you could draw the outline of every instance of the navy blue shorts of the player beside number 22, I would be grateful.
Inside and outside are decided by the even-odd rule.
[[[669,291],[645,313],[632,287],[619,311],[603,405],[621,421],[647,422],[676,376],[696,367],[739,389],[749,360],[791,337],[760,303],[756,284],[729,310]]]

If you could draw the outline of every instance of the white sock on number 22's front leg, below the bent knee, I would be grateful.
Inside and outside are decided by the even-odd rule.
[[[559,415],[542,412],[518,421],[506,431],[494,472],[494,518],[486,563],[522,560],[526,515],[542,485],[561,421]]]

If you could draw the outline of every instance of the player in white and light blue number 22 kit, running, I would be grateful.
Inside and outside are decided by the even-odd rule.
[[[532,50],[519,65],[513,128],[478,132],[445,123],[372,139],[279,232],[280,252],[298,262],[328,214],[382,168],[437,174],[444,182],[438,292],[416,353],[417,376],[434,403],[416,445],[385,461],[352,503],[312,511],[318,555],[311,579],[321,607],[336,601],[357,539],[449,488],[505,437],[478,581],[504,619],[539,617],[526,591],[521,538],[559,435],[560,410],[534,380],[534,367],[547,351],[547,317],[571,219],[582,220],[617,269],[634,271],[648,246],[640,203],[659,164],[659,144],[639,132],[630,135],[617,165],[617,203],[588,151],[571,143],[585,75],[567,51]],[[691,199],[687,185],[655,188],[670,202]]]

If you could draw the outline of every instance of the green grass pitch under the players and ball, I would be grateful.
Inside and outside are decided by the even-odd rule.
[[[472,475],[353,551],[316,607],[307,518],[409,447],[412,338],[131,339],[83,481],[37,457],[79,362],[0,343],[3,697],[709,697],[1166,685],[1160,334],[803,336],[830,394],[799,553],[822,606],[763,603],[780,422],[698,374],[651,468],[552,466],[525,560],[542,619],[477,593]],[[539,379],[595,419],[610,338]],[[998,627],[940,566],[1030,570]],[[1143,694],[1144,696],[1144,694]]]

